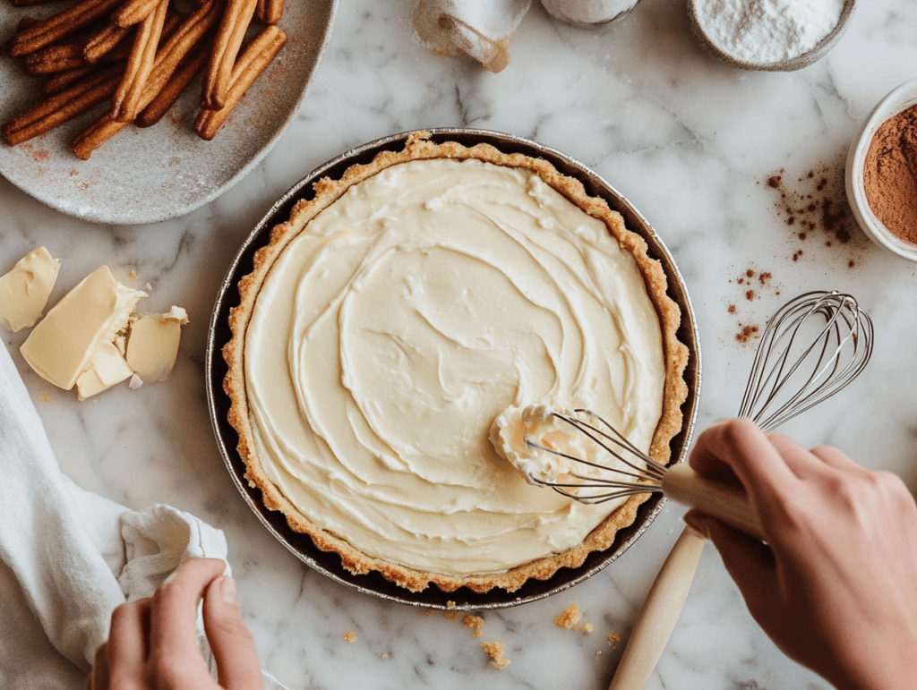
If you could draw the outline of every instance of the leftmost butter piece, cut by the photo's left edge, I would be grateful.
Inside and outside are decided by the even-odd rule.
[[[39,246],[0,276],[0,323],[16,333],[35,325],[48,303],[61,262]]]

